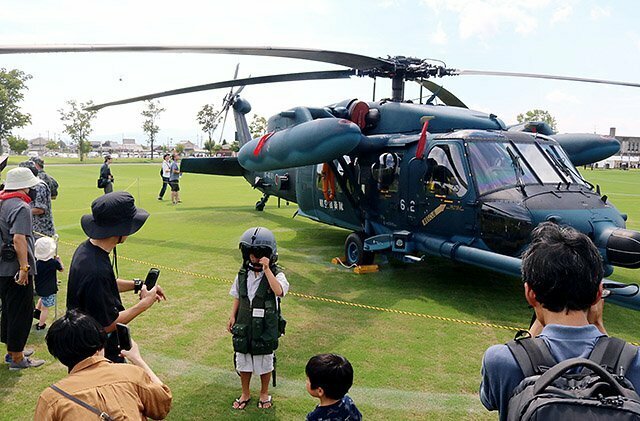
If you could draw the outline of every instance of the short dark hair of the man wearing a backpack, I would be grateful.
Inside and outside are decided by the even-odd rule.
[[[522,255],[522,280],[553,312],[588,310],[603,277],[602,256],[586,235],[551,222],[531,233]]]

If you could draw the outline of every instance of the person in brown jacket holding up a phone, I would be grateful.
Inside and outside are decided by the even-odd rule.
[[[100,412],[110,417],[103,419],[159,420],[169,413],[171,390],[144,362],[137,344],[131,341],[131,349],[122,351],[131,364],[107,360],[106,333],[91,316],[67,311],[51,325],[46,341],[69,375],[40,394],[35,420],[100,419]]]

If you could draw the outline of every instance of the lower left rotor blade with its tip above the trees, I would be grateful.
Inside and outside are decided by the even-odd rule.
[[[285,73],[281,75],[248,77],[245,79],[226,80],[224,82],[207,83],[205,85],[191,86],[188,88],[173,89],[170,91],[158,92],[155,94],[141,95],[119,101],[107,102],[88,107],[87,110],[100,110],[112,105],[129,104],[131,102],[146,101],[148,99],[162,98],[165,96],[188,94],[191,92],[207,91],[210,89],[229,88],[242,85],[259,85],[274,82],[292,82],[298,80],[320,80],[320,79],[346,79],[355,75],[354,70],[327,70],[320,72]]]

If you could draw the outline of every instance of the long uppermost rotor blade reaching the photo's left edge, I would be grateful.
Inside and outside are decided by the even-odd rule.
[[[82,52],[167,52],[167,53],[201,53],[201,54],[237,54],[248,56],[267,56],[297,58],[301,60],[320,61],[339,64],[352,69],[366,70],[383,68],[393,70],[390,60],[367,57],[360,54],[343,53],[341,51],[313,50],[308,48],[281,47],[221,47],[207,45],[0,45],[0,54],[32,54],[32,53],[82,53]]]

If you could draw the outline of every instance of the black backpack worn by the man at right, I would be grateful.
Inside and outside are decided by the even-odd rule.
[[[509,400],[507,420],[640,420],[640,397],[624,377],[635,346],[603,336],[589,359],[560,363],[542,338],[518,338],[507,347],[524,374]]]

